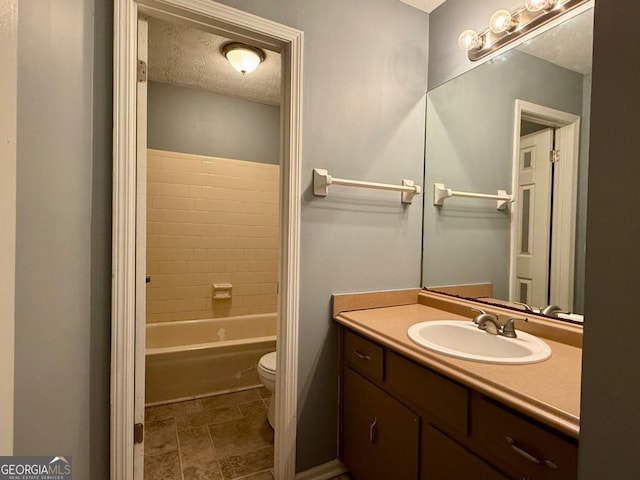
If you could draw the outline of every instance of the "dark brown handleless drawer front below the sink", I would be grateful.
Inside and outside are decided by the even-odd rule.
[[[385,384],[435,419],[467,434],[469,391],[462,385],[387,352]]]

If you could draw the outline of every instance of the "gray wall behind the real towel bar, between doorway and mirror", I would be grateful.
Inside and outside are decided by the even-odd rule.
[[[421,207],[398,194],[310,192],[314,167],[420,181],[428,16],[397,0],[225,0],[304,31],[297,469],[336,457],[333,293],[416,287]]]

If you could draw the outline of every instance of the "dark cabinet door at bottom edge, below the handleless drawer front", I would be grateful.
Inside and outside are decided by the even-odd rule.
[[[421,480],[508,480],[432,425],[425,425]]]

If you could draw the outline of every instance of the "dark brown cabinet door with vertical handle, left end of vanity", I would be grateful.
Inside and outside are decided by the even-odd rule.
[[[343,461],[357,480],[417,480],[419,418],[344,369]]]

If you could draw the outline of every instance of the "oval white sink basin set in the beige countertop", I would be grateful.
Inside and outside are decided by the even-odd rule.
[[[518,338],[492,335],[471,321],[420,322],[409,327],[407,334],[429,350],[475,362],[526,364],[542,362],[551,356],[549,345],[533,335],[520,330]]]

